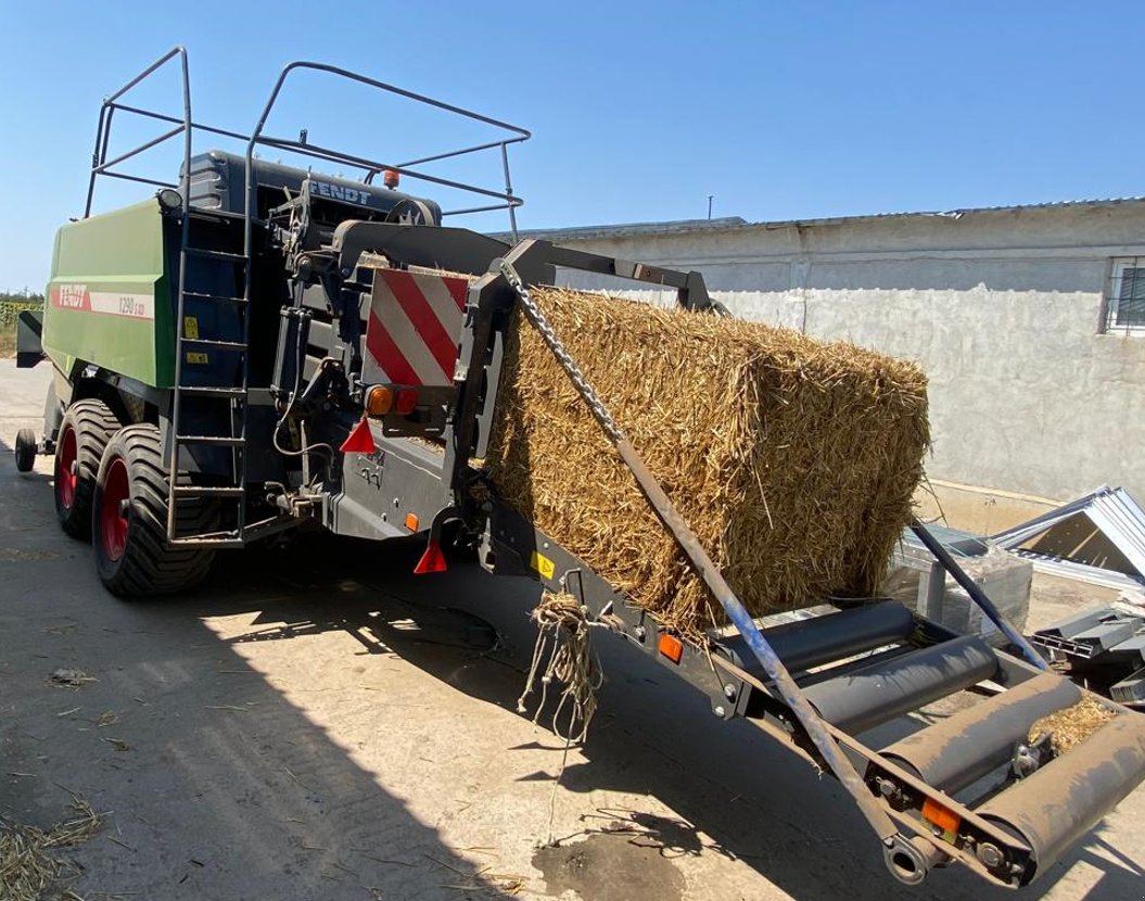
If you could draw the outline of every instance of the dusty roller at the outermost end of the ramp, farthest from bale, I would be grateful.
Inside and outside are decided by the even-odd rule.
[[[1122,713],[976,811],[1034,852],[1030,879],[1145,780],[1145,717]],[[979,848],[979,857],[988,848]]]

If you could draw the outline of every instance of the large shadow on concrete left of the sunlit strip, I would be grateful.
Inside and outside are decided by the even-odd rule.
[[[42,477],[0,467],[0,815],[48,827],[70,792],[104,814],[58,852],[76,895],[508,896],[203,623],[244,607],[215,600],[226,583],[117,601],[57,534]],[[228,591],[258,580],[221,570]],[[96,681],[55,687],[60,666]]]

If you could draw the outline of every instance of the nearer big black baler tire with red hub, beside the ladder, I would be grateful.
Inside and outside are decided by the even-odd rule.
[[[183,591],[211,569],[214,551],[167,542],[167,485],[158,427],[144,424],[120,429],[100,461],[92,507],[96,570],[114,595],[142,598]],[[188,521],[195,520],[192,525],[208,531],[218,511],[210,504],[197,504],[183,509],[181,503],[180,508],[190,514]]]

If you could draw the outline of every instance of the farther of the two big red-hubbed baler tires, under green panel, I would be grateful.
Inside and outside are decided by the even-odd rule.
[[[111,408],[94,397],[69,406],[60,424],[54,464],[56,516],[72,538],[87,540],[92,536],[95,476],[103,449],[118,430],[119,420]]]

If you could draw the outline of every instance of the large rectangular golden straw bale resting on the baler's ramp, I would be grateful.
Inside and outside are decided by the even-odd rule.
[[[923,475],[917,366],[742,319],[563,289],[534,297],[752,614],[877,588]],[[665,625],[722,624],[514,316],[487,457],[498,495]]]

